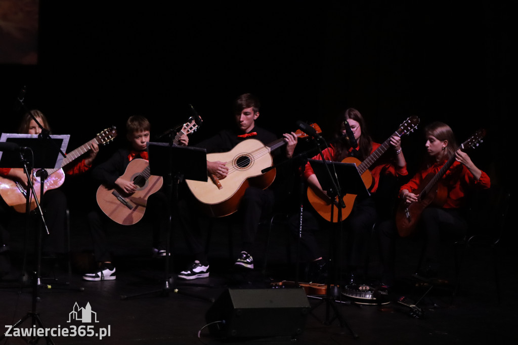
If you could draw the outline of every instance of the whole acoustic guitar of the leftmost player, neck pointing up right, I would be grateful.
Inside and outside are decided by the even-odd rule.
[[[95,138],[84,143],[77,149],[72,152],[66,154],[65,159],[61,164],[61,168],[57,169],[38,169],[33,170],[34,175],[34,190],[36,192],[36,197],[40,196],[41,190],[41,181],[40,176],[42,170],[47,172],[47,178],[45,179],[44,190],[45,194],[48,190],[56,189],[63,184],[65,181],[65,172],[63,171],[63,167],[69,164],[70,162],[77,159],[84,153],[87,153],[92,146],[92,143],[96,143],[97,145],[106,145],[111,140],[117,137],[117,129],[116,127],[106,128],[106,130],[97,134]],[[14,168],[22,170],[21,168]],[[25,212],[26,205],[26,191],[23,186],[16,181],[13,181],[8,178],[0,177],[0,195],[4,199],[5,203],[9,206],[12,206],[17,212],[23,213]],[[36,202],[34,199],[31,200],[31,211],[36,208]]]

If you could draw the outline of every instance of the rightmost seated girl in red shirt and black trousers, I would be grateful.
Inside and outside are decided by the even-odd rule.
[[[471,161],[463,148],[457,146],[453,131],[447,124],[434,122],[426,126],[425,139],[424,165],[408,183],[401,186],[399,197],[402,200],[401,205],[421,202],[419,194],[427,181],[430,177],[439,178],[436,189],[428,193],[432,198],[435,195],[435,198],[422,210],[419,221],[425,234],[426,249],[423,266],[418,269],[416,276],[430,279],[437,277],[440,234],[448,233],[450,236],[462,238],[467,230],[468,225],[462,213],[466,192],[470,188],[488,189],[491,181]],[[453,163],[444,171],[444,175],[436,176],[448,161]],[[396,222],[399,229],[398,218]]]

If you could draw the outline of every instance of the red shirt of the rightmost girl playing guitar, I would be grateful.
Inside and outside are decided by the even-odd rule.
[[[402,190],[408,190],[414,193],[421,182],[428,174],[437,174],[437,172],[446,163],[446,160],[442,163],[436,163],[430,166],[428,169],[421,170],[407,184],[401,186],[399,192]],[[475,180],[473,174],[464,166],[462,163],[455,162],[452,164],[450,169],[446,171],[446,174],[440,179],[440,182],[445,184],[448,188],[448,196],[446,202],[442,206],[443,208],[459,208],[463,204],[466,188],[477,187],[481,189],[488,189],[491,186],[491,180],[487,174],[482,171],[480,179]]]

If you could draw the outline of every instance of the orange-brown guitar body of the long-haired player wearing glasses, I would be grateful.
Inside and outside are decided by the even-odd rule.
[[[356,166],[358,166],[361,162],[356,159],[355,157],[346,157],[342,163],[354,163]],[[369,170],[366,170],[362,174],[362,180],[365,184],[367,189],[370,189],[372,186],[372,175],[370,174]],[[344,182],[341,182],[342,184]],[[328,222],[337,223],[338,220],[338,206],[333,205],[333,219],[331,219],[331,207],[330,204],[327,203],[326,200],[322,199],[318,194],[315,193],[315,191],[308,187],[308,201],[311,204],[311,206],[314,208],[314,210],[321,215],[322,218],[324,218]],[[345,220],[347,217],[349,217],[349,214],[351,214],[351,211],[354,206],[354,200],[356,199],[356,194],[346,194],[343,196],[343,202],[346,205],[345,208],[342,209],[342,217],[340,221]]]

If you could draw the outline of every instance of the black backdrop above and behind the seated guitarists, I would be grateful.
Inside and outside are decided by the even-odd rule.
[[[1,132],[16,132],[20,88],[69,150],[143,114],[152,134],[181,124],[192,104],[204,120],[191,143],[232,125],[241,93],[262,100],[258,124],[278,134],[295,122],[332,133],[338,111],[358,109],[375,141],[407,117],[450,124],[458,141],[485,127],[471,153],[508,183],[512,135],[510,5],[454,2],[52,2],[40,1],[37,65],[0,65]],[[406,137],[410,173],[423,134]],[[78,188],[88,177],[79,177]],[[89,192],[87,192],[88,194]],[[93,192],[92,192],[93,193]],[[92,194],[90,193],[90,194]],[[74,198],[74,196],[71,196]]]

